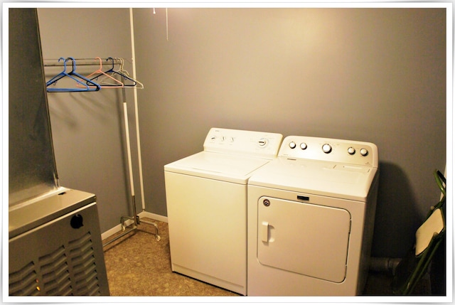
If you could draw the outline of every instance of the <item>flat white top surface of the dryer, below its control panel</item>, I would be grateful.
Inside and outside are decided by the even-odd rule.
[[[366,201],[378,168],[279,157],[256,171],[249,184]]]

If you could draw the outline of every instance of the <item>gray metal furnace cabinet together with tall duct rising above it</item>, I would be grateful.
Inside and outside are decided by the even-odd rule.
[[[37,11],[8,14],[9,296],[109,295],[96,197],[58,184]]]

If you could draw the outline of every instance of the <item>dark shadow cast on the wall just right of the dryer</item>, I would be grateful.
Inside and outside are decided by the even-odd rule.
[[[372,257],[404,257],[422,219],[410,181],[396,164],[380,162]]]

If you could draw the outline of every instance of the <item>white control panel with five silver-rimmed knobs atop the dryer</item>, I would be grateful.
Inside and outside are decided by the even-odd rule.
[[[362,141],[289,136],[278,156],[378,167],[378,147]]]

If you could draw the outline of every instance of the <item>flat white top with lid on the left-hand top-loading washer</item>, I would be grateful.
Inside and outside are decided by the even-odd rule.
[[[248,156],[200,151],[198,154],[166,164],[164,171],[246,184],[252,173],[269,161]]]

